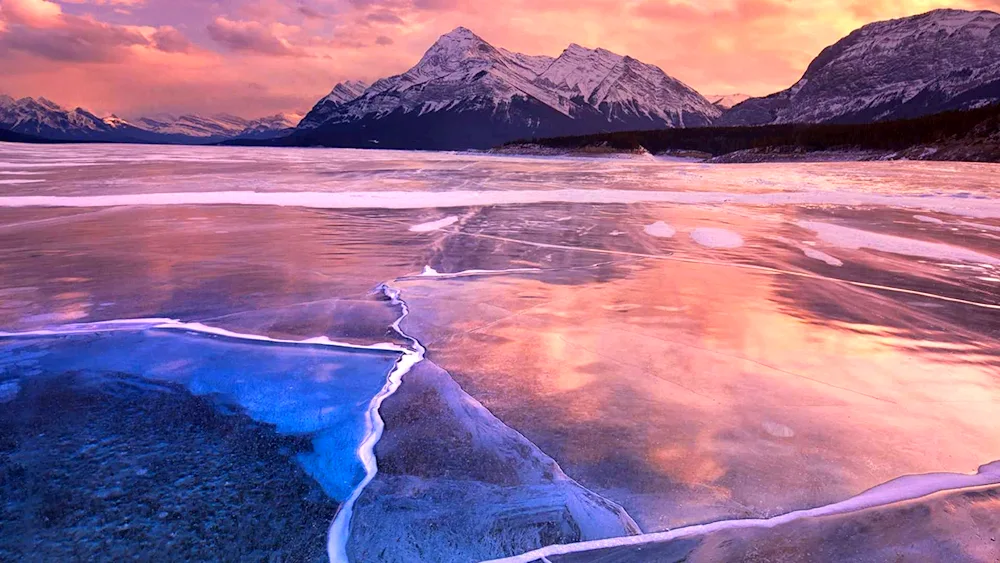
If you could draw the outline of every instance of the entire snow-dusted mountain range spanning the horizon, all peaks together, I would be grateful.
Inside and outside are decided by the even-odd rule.
[[[703,96],[659,67],[570,45],[558,57],[443,35],[403,74],[337,84],[297,125],[285,116],[133,122],[0,96],[0,129],[61,140],[402,149],[684,127],[871,123],[1000,103],[1000,14],[935,10],[877,22],[824,49],[770,96]]]

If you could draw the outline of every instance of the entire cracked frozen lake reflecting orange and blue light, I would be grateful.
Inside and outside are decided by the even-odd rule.
[[[0,177],[0,560],[1000,559],[996,165]]]

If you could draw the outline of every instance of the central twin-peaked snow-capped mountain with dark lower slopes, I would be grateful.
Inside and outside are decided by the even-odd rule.
[[[722,113],[658,67],[631,57],[579,45],[555,58],[523,55],[461,27],[405,73],[378,80],[353,99],[331,96],[320,100],[290,143],[486,148],[537,136],[708,125]]]

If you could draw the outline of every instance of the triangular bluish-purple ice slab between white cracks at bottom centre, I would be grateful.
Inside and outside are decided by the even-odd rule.
[[[353,561],[475,561],[639,531],[430,362],[382,413],[380,471],[357,505]]]

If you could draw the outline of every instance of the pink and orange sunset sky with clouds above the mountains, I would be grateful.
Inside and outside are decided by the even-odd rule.
[[[0,0],[0,93],[126,118],[301,114],[465,26],[512,51],[603,47],[703,94],[764,95],[853,29],[935,8],[1000,0]]]

